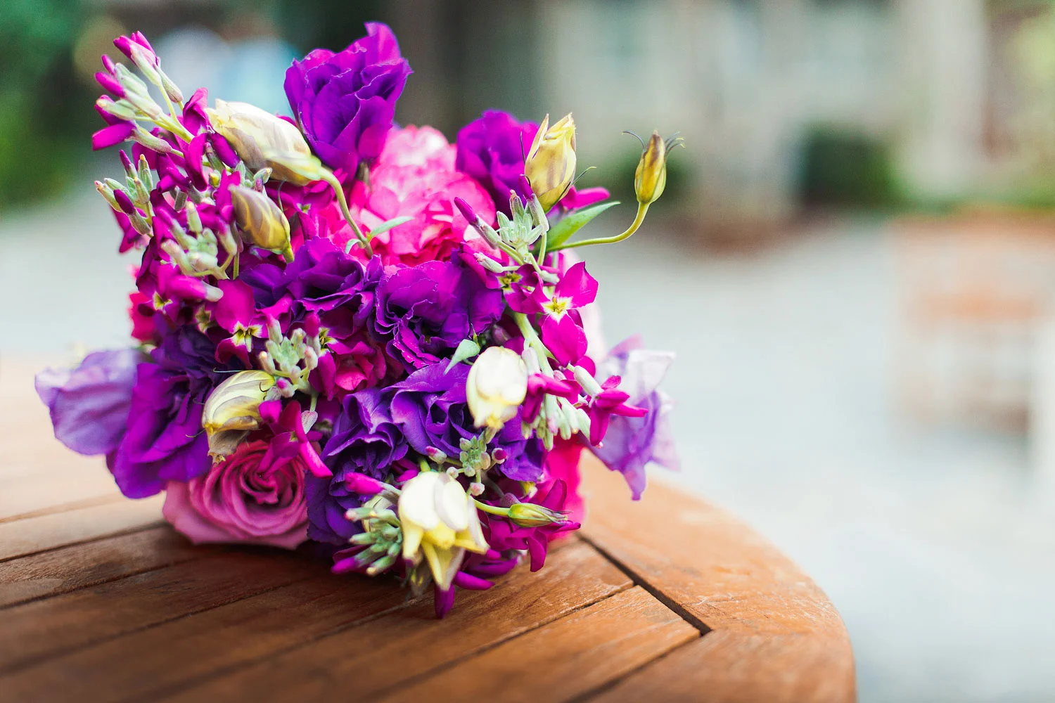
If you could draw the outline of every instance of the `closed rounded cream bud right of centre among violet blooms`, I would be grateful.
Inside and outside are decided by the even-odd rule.
[[[488,347],[465,379],[465,399],[477,427],[498,430],[517,415],[528,394],[528,365],[505,347]]]

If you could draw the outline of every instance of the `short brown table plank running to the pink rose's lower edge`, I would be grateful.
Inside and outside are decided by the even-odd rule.
[[[213,554],[169,526],[71,545],[0,563],[0,607],[116,581]]]

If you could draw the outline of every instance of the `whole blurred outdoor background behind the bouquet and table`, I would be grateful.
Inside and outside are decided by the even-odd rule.
[[[92,187],[119,164],[89,148],[114,36],[288,112],[290,61],[368,19],[415,70],[403,123],[574,111],[580,183],[625,200],[620,132],[679,131],[654,217],[588,253],[609,341],[678,354],[660,477],[818,581],[862,701],[1055,700],[1047,1],[4,0],[0,365],[127,339],[134,261]]]

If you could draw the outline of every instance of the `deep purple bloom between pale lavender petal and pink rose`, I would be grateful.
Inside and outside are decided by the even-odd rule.
[[[147,497],[169,481],[190,481],[212,466],[202,430],[202,407],[223,380],[216,347],[192,327],[170,332],[140,364],[132,389],[128,428],[110,470],[129,497]]]

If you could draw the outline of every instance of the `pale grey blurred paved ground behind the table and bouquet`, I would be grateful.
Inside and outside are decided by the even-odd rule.
[[[0,364],[121,344],[131,260],[115,250],[90,194],[0,217]],[[610,341],[640,331],[679,355],[667,387],[686,469],[664,479],[817,579],[863,701],[1055,699],[1055,499],[1024,440],[899,422],[880,227],[818,228],[750,258],[686,254],[646,227],[589,254]]]

